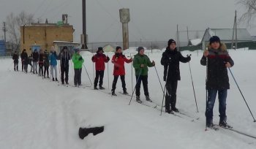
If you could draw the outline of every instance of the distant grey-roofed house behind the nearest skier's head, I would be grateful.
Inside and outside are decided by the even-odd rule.
[[[203,49],[206,48],[208,41],[211,37],[218,36],[222,42],[226,44],[232,43],[233,39],[233,28],[207,28],[203,35],[202,44]],[[234,39],[235,36],[234,36]],[[252,36],[249,34],[246,28],[237,29],[237,42],[252,42]]]

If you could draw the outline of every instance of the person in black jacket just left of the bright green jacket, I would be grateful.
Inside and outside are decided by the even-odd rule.
[[[69,84],[69,60],[70,54],[67,51],[67,46],[64,46],[59,53],[59,60],[61,61],[61,83],[64,84],[64,74],[65,74],[65,83]]]

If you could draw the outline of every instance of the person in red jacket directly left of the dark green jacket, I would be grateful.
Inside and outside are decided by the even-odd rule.
[[[122,83],[124,94],[128,94],[126,84],[125,84],[125,80],[124,80],[124,75],[125,75],[124,62],[131,63],[132,58],[127,59],[123,55],[121,47],[116,47],[116,53],[112,58],[112,63],[114,64],[114,70],[113,70],[114,80],[113,80],[112,90],[111,90],[112,91],[112,96],[116,96],[116,93],[115,93],[116,82],[118,80],[119,75],[121,77],[121,83]]]

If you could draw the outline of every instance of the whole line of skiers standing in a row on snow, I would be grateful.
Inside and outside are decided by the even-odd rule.
[[[74,63],[74,84],[75,86],[81,85],[81,72],[83,67],[84,59],[80,56],[80,49],[74,49],[75,53],[72,56],[72,62]],[[61,83],[68,84],[68,74],[69,74],[69,60],[71,55],[67,50],[67,47],[64,47],[59,53],[59,56],[56,55],[54,47],[51,48],[50,55],[48,56],[47,50],[45,53],[37,53],[37,50],[32,53],[33,68],[37,61],[39,61],[39,75],[42,70],[42,66],[45,66],[48,72],[48,67],[50,61],[50,70],[51,75],[54,81],[57,80],[57,60],[60,60],[61,66]],[[40,58],[41,57],[41,58]],[[48,59],[47,59],[48,58]],[[15,53],[12,57],[14,60],[15,70],[18,70],[18,54]],[[27,61],[28,56],[26,55],[26,50],[23,50],[21,53],[21,59]],[[46,63],[45,63],[46,61]],[[108,56],[105,56],[102,47],[98,47],[96,55],[91,58],[91,61],[95,63],[96,77],[94,79],[94,89],[98,90],[97,85],[99,82],[99,89],[105,89],[103,84],[103,77],[105,72],[105,63],[110,61]],[[123,88],[123,93],[127,94],[127,88],[125,83],[125,67],[124,63],[131,63],[135,69],[136,85],[135,85],[135,94],[136,101],[141,103],[140,100],[140,84],[143,83],[144,95],[146,96],[146,101],[152,102],[149,93],[148,93],[148,67],[155,66],[154,61],[150,61],[148,56],[144,54],[144,48],[138,47],[138,54],[133,58],[126,58],[122,53],[121,47],[116,47],[116,53],[112,57],[111,62],[114,64],[113,68],[113,84],[111,93],[112,96],[116,96],[116,83],[118,77],[121,78],[121,84]],[[176,91],[178,87],[178,80],[181,80],[179,62],[187,63],[191,61],[191,57],[184,57],[181,55],[176,48],[176,41],[170,39],[167,42],[167,47],[164,53],[162,53],[161,64],[164,66],[164,76],[163,80],[165,81],[165,112],[171,114],[173,112],[179,112],[176,108]],[[208,50],[205,50],[203,57],[200,60],[200,63],[203,66],[207,67],[206,75],[206,91],[208,93],[207,102],[206,102],[206,126],[212,127],[213,124],[213,109],[214,102],[218,93],[219,97],[219,125],[227,125],[227,115],[226,115],[226,99],[227,99],[227,89],[230,88],[229,79],[227,75],[227,67],[234,65],[232,58],[227,52],[227,47],[225,44],[220,42],[219,37],[214,36],[209,40]],[[24,62],[24,69],[27,72],[27,63]],[[53,77],[53,69],[55,70],[55,77]],[[37,73],[37,69],[33,69],[33,72]],[[65,77],[64,77],[65,75]],[[44,72],[45,76],[45,72]]]

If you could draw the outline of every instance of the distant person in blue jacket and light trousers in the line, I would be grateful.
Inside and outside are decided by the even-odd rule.
[[[53,81],[58,81],[58,79],[57,79],[57,53],[54,50],[53,46],[50,48],[49,61],[50,61],[50,75],[52,76]],[[53,75],[53,69],[55,71],[55,76]],[[54,80],[54,78],[55,78],[55,80]]]

